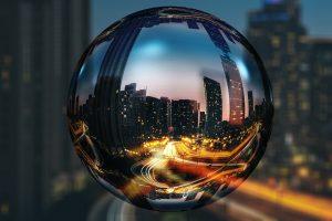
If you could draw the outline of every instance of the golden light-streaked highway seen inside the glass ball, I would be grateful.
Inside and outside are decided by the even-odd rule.
[[[168,193],[180,194],[199,190],[211,181],[220,182],[221,186],[227,181],[225,177],[242,172],[255,157],[255,152],[252,152],[248,161],[237,160],[246,149],[252,147],[253,140],[259,137],[258,126],[252,127],[248,134],[240,144],[229,151],[211,151],[206,148],[200,148],[197,151],[196,147],[189,147],[186,144],[190,138],[167,139],[166,143],[153,141],[148,148],[157,149],[157,151],[131,168],[132,172],[136,175],[134,181],[138,181],[143,186],[163,189]],[[186,140],[184,141],[184,139]],[[186,175],[195,178],[188,180],[185,178]]]

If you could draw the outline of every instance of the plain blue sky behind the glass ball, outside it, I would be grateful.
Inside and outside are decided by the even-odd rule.
[[[303,23],[314,36],[332,38],[332,1],[302,0]],[[260,8],[261,0],[94,0],[92,4],[92,38],[114,21],[137,10],[179,6],[196,8],[212,13],[234,25],[246,30],[247,12]]]

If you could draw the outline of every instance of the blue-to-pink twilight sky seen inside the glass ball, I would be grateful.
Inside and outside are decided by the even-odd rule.
[[[206,110],[203,77],[207,76],[221,85],[222,118],[228,120],[229,95],[220,60],[222,52],[215,46],[204,27],[198,25],[199,30],[188,29],[185,22],[144,28],[129,54],[122,90],[137,83],[137,90],[147,88],[148,96],[194,99],[200,103],[201,110]],[[249,75],[241,59],[243,48],[230,41],[228,44],[242,78],[247,116],[248,91],[253,91],[255,104],[260,104],[263,98],[260,73]]]

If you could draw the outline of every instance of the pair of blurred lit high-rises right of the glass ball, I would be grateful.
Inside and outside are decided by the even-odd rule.
[[[290,187],[331,192],[331,41],[307,38],[299,1],[263,2],[249,13],[247,34],[274,96],[274,125],[261,168]]]

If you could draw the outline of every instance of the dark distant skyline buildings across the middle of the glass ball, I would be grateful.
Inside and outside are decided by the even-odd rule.
[[[241,130],[255,119],[261,119],[266,114],[264,102],[251,109],[251,115],[242,125],[222,120],[222,96],[220,83],[204,77],[206,94],[206,112],[200,110],[200,104],[193,99],[170,99],[168,97],[147,96],[147,90],[137,90],[136,83],[125,85],[118,92],[118,130],[123,144],[136,146],[139,143],[160,138],[163,136],[203,135],[220,138],[227,133]],[[252,92],[249,91],[249,103],[253,104]],[[251,94],[251,96],[250,96]],[[79,97],[76,97],[79,101]],[[76,103],[79,104],[79,103]],[[92,95],[83,105],[76,106],[76,114],[84,116],[92,131],[94,128],[94,105]],[[232,109],[230,109],[232,112]]]

